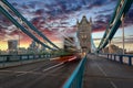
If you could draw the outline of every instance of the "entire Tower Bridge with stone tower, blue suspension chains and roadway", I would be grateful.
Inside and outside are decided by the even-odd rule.
[[[132,88],[133,55],[124,52],[102,52],[111,43],[120,24],[123,25],[132,2],[133,0],[117,1],[98,48],[91,35],[92,20],[88,21],[83,15],[81,22],[76,22],[76,35],[84,54],[78,59],[76,55],[71,55],[53,44],[7,0],[0,0],[0,12],[12,24],[43,47],[51,50],[43,54],[0,55],[0,88]],[[41,42],[25,26],[43,37],[52,47]],[[95,50],[94,53],[92,50]]]

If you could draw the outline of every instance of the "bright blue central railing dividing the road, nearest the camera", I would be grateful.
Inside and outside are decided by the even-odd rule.
[[[82,78],[83,78],[85,61],[86,61],[86,56],[81,59],[80,64],[78,65],[73,74],[63,85],[63,88],[82,88]]]

